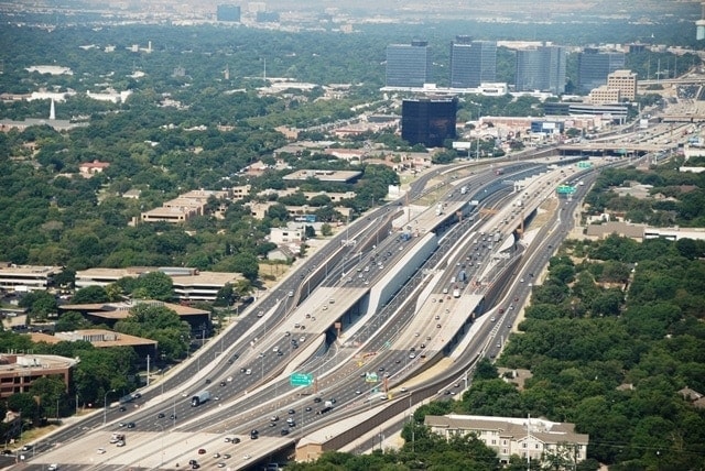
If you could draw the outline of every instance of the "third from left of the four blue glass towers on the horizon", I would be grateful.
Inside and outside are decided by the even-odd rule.
[[[539,46],[517,51],[517,91],[565,91],[566,52],[561,46]]]

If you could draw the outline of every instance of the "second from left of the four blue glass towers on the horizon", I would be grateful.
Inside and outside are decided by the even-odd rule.
[[[497,43],[456,36],[451,43],[451,87],[474,88],[497,81]]]

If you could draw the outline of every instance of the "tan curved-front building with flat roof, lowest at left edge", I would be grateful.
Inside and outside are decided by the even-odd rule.
[[[29,393],[40,377],[57,377],[66,391],[78,359],[51,354],[0,354],[0,399]]]

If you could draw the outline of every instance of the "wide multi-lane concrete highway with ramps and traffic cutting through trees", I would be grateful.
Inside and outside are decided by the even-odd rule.
[[[394,220],[404,219],[403,207],[398,202],[351,224],[278,286],[274,295],[258,300],[248,316],[174,371],[164,381],[163,390],[156,385],[144,391],[127,410],[112,407],[105,417],[96,415],[50,437],[50,443],[61,445],[43,453],[40,443],[32,465],[62,462],[67,463],[63,469],[173,469],[188,459],[197,458],[204,463],[218,460],[208,458],[214,450],[237,449],[238,457],[228,452],[232,461],[226,465],[240,469],[268,458],[273,450],[291,448],[306,428],[313,431],[339,421],[343,413],[370,409],[377,391],[403,384],[432,364],[434,358],[452,352],[452,344],[475,320],[475,308],[484,293],[492,289],[486,281],[497,278],[506,267],[492,259],[496,252],[487,247],[486,234],[500,233],[500,240],[508,240],[513,237],[519,218],[528,213],[513,206],[487,218],[479,210],[512,208],[517,195],[511,193],[511,183],[506,182],[510,174],[543,185],[542,190],[531,193],[536,204],[552,194],[554,186],[538,178],[538,172],[546,172],[544,165],[514,167],[513,174],[507,169],[507,176],[499,178],[485,171],[454,182],[454,189],[443,197],[447,213],[437,215],[431,207],[419,217],[406,219],[405,227],[414,232],[409,240],[401,237],[403,231],[390,229]],[[426,180],[438,175],[429,175]],[[553,185],[563,180],[557,171],[546,178]],[[473,191],[460,195],[458,185],[468,185]],[[421,188],[416,186],[413,191],[421,194]],[[469,209],[467,201],[480,196],[482,206]],[[528,205],[530,198],[525,199]],[[456,211],[463,216],[458,218]],[[511,224],[510,217],[516,219]],[[571,222],[563,218],[562,223]],[[545,238],[555,238],[553,247],[564,237],[562,227],[556,226]],[[352,239],[355,244],[347,242]],[[501,244],[497,245],[495,249]],[[527,273],[539,273],[547,261],[550,252],[544,258],[538,253],[533,251],[528,259],[531,263],[522,260],[521,266],[531,270]],[[467,280],[451,281],[459,270],[466,272]],[[401,281],[400,273],[406,273]],[[455,297],[452,292],[444,293],[451,286],[462,288],[462,294]],[[516,299],[529,291],[519,288]],[[465,315],[457,316],[458,311]],[[501,321],[485,324],[509,322],[511,311],[507,309]],[[489,331],[474,336],[485,351]],[[294,371],[312,372],[314,385],[292,388],[289,374]],[[375,385],[367,382],[369,373],[376,373],[380,381]],[[192,407],[191,396],[206,388],[212,399]],[[333,398],[333,410],[317,414],[325,408],[325,401]],[[270,420],[272,416],[279,416],[279,420]],[[293,426],[285,424],[289,417]],[[120,426],[128,421],[135,427],[126,430]],[[252,429],[261,438],[251,440]],[[286,434],[282,435],[282,430]],[[107,445],[112,431],[128,435],[123,449]],[[236,436],[240,439],[236,446],[225,441],[226,437]],[[77,453],[76,447],[107,451],[93,456]],[[207,450],[206,457],[196,456],[199,448]],[[246,459],[246,454],[250,458]]]

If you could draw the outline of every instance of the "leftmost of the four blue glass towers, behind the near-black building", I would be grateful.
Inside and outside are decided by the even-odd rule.
[[[387,86],[423,87],[433,79],[433,62],[429,42],[387,46]]]

